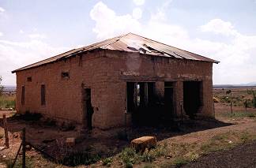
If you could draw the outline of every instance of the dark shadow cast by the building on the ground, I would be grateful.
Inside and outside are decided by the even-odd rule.
[[[118,154],[130,144],[130,140],[140,136],[156,136],[157,140],[165,140],[173,136],[198,132],[232,125],[213,118],[195,118],[172,121],[171,125],[130,126],[129,128],[102,131],[93,129],[84,140],[77,140],[74,147],[66,146],[67,137],[79,136],[79,126],[72,130],[64,130],[56,126],[54,121],[41,121],[39,116],[16,115],[8,118],[9,132],[17,133],[26,128],[26,139],[37,148],[46,159],[62,163],[66,166],[91,164],[99,159]],[[1,119],[2,126],[2,119]]]

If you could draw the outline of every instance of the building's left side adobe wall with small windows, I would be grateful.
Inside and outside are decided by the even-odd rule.
[[[82,87],[92,88],[93,125],[104,127],[107,97],[106,69],[104,57],[100,53],[88,53],[85,57],[70,58],[17,72],[17,111],[41,113],[45,117],[60,121],[82,122]],[[70,79],[62,79],[62,72],[70,72]],[[32,82],[27,81],[32,77]],[[46,105],[41,106],[40,87],[46,87]],[[21,87],[25,87],[25,101],[21,105]],[[83,121],[84,122],[84,121]]]

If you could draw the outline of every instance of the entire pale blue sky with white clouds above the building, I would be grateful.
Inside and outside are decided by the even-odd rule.
[[[214,84],[256,81],[256,0],[0,0],[0,76],[126,32],[220,61]]]

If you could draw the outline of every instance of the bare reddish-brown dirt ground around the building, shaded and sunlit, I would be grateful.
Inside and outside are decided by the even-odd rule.
[[[219,91],[219,90],[218,90]],[[223,91],[220,91],[221,93]],[[235,92],[235,91],[234,91]],[[239,91],[238,91],[239,92]],[[240,94],[240,93],[239,93]],[[183,124],[176,125],[175,128],[166,128],[163,125],[159,127],[140,127],[127,129],[127,136],[129,140],[122,140],[122,134],[124,128],[111,129],[108,131],[102,131],[93,129],[92,133],[88,133],[85,140],[77,142],[75,147],[66,147],[65,140],[68,137],[80,136],[80,127],[77,126],[73,130],[63,130],[59,126],[47,125],[42,121],[24,121],[21,118],[13,117],[13,111],[0,111],[0,118],[2,114],[7,114],[8,128],[9,128],[9,144],[8,149],[0,150],[0,167],[5,167],[7,161],[12,161],[17,153],[17,149],[21,144],[21,138],[17,136],[17,133],[21,132],[21,129],[26,128],[26,140],[29,143],[35,145],[47,153],[42,153],[32,148],[27,151],[28,160],[32,159],[31,167],[67,167],[65,164],[52,162],[51,157],[58,159],[60,155],[67,151],[90,151],[93,157],[100,155],[100,159],[95,159],[95,163],[90,167],[103,166],[103,159],[111,157],[111,167],[124,167],[124,164],[120,162],[118,157],[122,149],[130,144],[130,140],[139,136],[156,136],[158,144],[197,144],[202,145],[211,140],[214,136],[221,133],[242,133],[247,132],[256,135],[256,109],[247,108],[247,111],[243,106],[232,106],[229,103],[215,103],[215,116],[213,119],[196,118],[195,120],[185,120]],[[0,126],[0,147],[4,147],[2,124]],[[2,136],[1,136],[2,135]],[[231,141],[231,140],[230,140]],[[234,149],[235,150],[235,149]],[[173,154],[170,154],[173,155]],[[216,154],[219,155],[219,154]],[[93,158],[92,157],[92,158]],[[160,157],[152,162],[148,167],[169,167],[160,166],[163,162],[171,161],[172,156]],[[209,154],[209,159],[213,159],[215,156]],[[227,156],[228,157],[228,156]],[[19,158],[21,158],[19,156]],[[204,158],[201,158],[204,160]],[[201,159],[198,159],[200,162]],[[92,162],[93,159],[92,159]],[[90,163],[92,163],[90,162]],[[204,162],[204,161],[202,161]],[[134,163],[134,167],[145,167],[145,162]],[[190,166],[188,164],[187,166]],[[191,165],[193,166],[193,164]],[[86,167],[86,166],[79,166]],[[104,167],[104,166],[103,166]],[[203,166],[202,167],[206,167]]]

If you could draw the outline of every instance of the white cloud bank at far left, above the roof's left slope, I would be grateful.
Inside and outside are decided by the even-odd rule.
[[[13,42],[0,40],[0,74],[3,84],[15,84],[15,74],[11,71],[41,61],[45,58],[60,54],[66,47],[51,47],[40,40],[29,40],[26,42]]]

